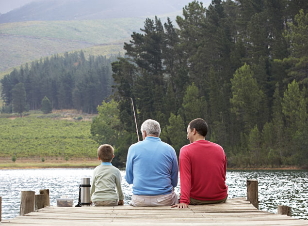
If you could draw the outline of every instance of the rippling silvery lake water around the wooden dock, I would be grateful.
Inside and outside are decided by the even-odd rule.
[[[19,215],[20,192],[49,189],[50,205],[56,205],[61,196],[74,198],[78,204],[81,178],[92,179],[93,169],[12,169],[0,170],[2,219]],[[128,205],[132,191],[121,171],[124,204]],[[278,205],[292,207],[292,216],[308,219],[308,170],[228,170],[228,198],[245,197],[246,180],[259,181],[259,209],[277,213]],[[92,180],[91,180],[92,181]],[[179,193],[179,186],[175,191]]]

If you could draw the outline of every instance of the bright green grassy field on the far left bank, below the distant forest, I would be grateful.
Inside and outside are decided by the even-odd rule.
[[[0,157],[11,159],[70,161],[76,158],[96,158],[97,143],[90,127],[93,115],[74,111],[54,111],[44,115],[39,111],[26,117],[0,115]],[[13,163],[12,159],[10,160]],[[44,165],[43,165],[44,166]]]

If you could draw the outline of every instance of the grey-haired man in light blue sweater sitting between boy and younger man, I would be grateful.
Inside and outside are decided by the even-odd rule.
[[[130,205],[171,206],[178,203],[178,159],[175,150],[161,141],[160,124],[148,119],[141,125],[143,141],[130,146],[125,179],[132,186]]]

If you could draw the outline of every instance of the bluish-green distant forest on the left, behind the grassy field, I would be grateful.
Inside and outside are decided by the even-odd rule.
[[[96,113],[97,105],[112,92],[111,62],[114,60],[115,56],[90,56],[86,60],[81,51],[54,55],[21,66],[20,70],[15,69],[1,79],[1,97],[5,103],[2,112],[14,110],[13,94],[18,84],[18,89],[21,87],[26,91],[25,109],[40,109],[46,96],[53,109],[75,108]]]

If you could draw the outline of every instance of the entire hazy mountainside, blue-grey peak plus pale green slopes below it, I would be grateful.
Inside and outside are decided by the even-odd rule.
[[[146,17],[166,22],[192,0],[35,0],[0,15],[1,74],[25,62],[86,49],[85,54],[123,53]],[[204,0],[208,6],[211,0]]]

